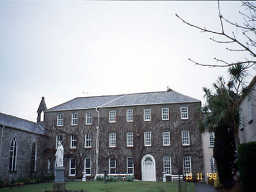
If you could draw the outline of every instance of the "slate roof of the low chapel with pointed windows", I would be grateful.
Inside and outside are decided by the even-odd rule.
[[[42,126],[35,122],[18,118],[16,116],[6,115],[0,112],[0,125],[23,131],[33,132],[37,134],[44,134],[45,131]]]

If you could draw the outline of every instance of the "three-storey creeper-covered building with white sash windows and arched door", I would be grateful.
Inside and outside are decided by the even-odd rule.
[[[200,108],[199,100],[172,90],[75,98],[45,111],[46,157],[54,167],[62,142],[66,179],[105,171],[143,181],[160,181],[163,172],[167,180],[203,173]]]

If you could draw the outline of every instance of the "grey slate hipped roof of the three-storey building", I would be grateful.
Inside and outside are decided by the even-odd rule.
[[[201,102],[176,91],[144,92],[126,95],[109,95],[99,97],[79,97],[50,108],[47,111],[66,111],[75,109],[92,109],[106,107],[125,107],[136,105],[156,105]]]

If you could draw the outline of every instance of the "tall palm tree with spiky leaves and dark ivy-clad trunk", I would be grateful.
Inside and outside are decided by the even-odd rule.
[[[207,126],[215,133],[214,157],[220,183],[224,188],[230,188],[233,184],[235,150],[239,145],[239,99],[246,90],[244,80],[247,70],[242,64],[237,64],[228,68],[228,74],[228,83],[223,77],[218,77],[217,82],[213,84],[213,91],[204,88],[207,103],[203,111],[206,114],[199,122],[201,131]]]

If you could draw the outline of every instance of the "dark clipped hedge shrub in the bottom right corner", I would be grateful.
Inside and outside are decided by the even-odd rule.
[[[256,142],[242,143],[238,148],[238,170],[242,191],[256,191]]]

